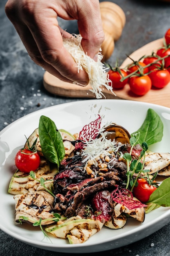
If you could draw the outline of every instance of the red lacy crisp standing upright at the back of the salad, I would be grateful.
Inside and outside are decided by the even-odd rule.
[[[92,121],[90,124],[86,124],[81,132],[79,132],[79,139],[82,141],[89,141],[90,139],[95,139],[99,133],[99,128],[102,118],[98,115],[98,118],[95,121]],[[84,143],[79,142],[75,145],[76,149],[84,148]]]

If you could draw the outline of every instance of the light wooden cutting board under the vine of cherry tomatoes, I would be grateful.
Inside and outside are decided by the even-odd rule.
[[[144,45],[137,51],[133,52],[130,55],[130,57],[134,61],[137,61],[144,55],[150,55],[152,54],[153,51],[156,52],[156,50],[161,46],[163,46],[163,38],[148,43],[147,45]],[[130,58],[126,58],[126,60],[121,64],[121,67],[125,67],[127,64],[131,62],[132,61],[130,60]],[[48,92],[58,96],[96,99],[95,94],[89,91],[89,89],[91,88],[90,84],[84,87],[66,83],[61,81],[60,79],[57,79],[55,76],[49,74],[49,72],[44,73],[43,84],[44,88]],[[143,101],[170,108],[170,83],[163,89],[151,89],[147,94],[139,97],[130,92],[128,84],[125,85],[123,89],[114,90],[114,92],[116,95],[106,90],[106,88],[104,88],[103,90],[106,99],[128,99],[135,101]]]

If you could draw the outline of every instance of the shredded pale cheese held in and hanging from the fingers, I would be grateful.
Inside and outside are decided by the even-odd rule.
[[[113,92],[112,86],[108,84],[106,68],[104,68],[104,64],[101,62],[103,55],[99,52],[97,62],[94,61],[82,49],[81,40],[82,36],[73,35],[72,38],[63,38],[63,44],[77,63],[78,72],[84,69],[88,74],[92,87],[90,91],[95,93],[97,99],[101,99],[104,96],[102,86]]]

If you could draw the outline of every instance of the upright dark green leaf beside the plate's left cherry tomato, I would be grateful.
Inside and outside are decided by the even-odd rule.
[[[49,117],[45,116],[40,117],[38,129],[44,157],[59,167],[65,155],[60,132],[57,130],[55,123]]]

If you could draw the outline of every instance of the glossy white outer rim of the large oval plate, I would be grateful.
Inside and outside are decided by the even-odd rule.
[[[17,124],[19,121],[24,121],[25,119],[28,119],[32,116],[36,116],[36,115],[39,115],[40,113],[42,113],[43,115],[43,112],[51,112],[52,110],[55,110],[55,109],[60,109],[62,110],[64,107],[77,107],[78,106],[81,106],[81,105],[93,105],[94,104],[99,104],[102,102],[104,105],[105,103],[107,102],[108,104],[116,104],[116,105],[120,105],[120,104],[125,104],[127,106],[129,105],[132,105],[132,106],[145,106],[148,107],[148,108],[154,108],[154,109],[160,109],[162,112],[167,112],[167,113],[170,113],[170,109],[169,108],[166,108],[166,107],[163,107],[163,106],[158,106],[156,104],[150,104],[150,103],[142,103],[142,102],[139,102],[139,101],[128,101],[128,100],[118,100],[118,99],[102,99],[102,100],[84,100],[84,101],[74,101],[74,102],[68,102],[68,103],[62,103],[60,105],[55,105],[55,106],[50,106],[48,108],[44,108],[44,109],[41,109],[41,110],[37,110],[33,113],[30,113],[28,115],[25,115],[24,117],[21,117],[20,119],[14,121],[13,123],[9,124],[6,128],[4,128],[3,130],[0,131],[0,137],[7,131],[7,130],[10,130],[13,128],[13,126],[15,126],[15,124]],[[31,131],[32,132],[32,131]],[[31,134],[30,132],[30,134]],[[0,166],[0,170],[1,170],[1,166]],[[159,227],[157,227],[157,229],[163,227],[164,225],[166,225],[169,221],[168,221],[168,217],[170,216],[170,210],[167,210],[166,212],[164,212],[163,214],[161,214],[161,216],[159,218],[157,218],[157,221],[161,222],[161,225]],[[155,224],[155,220],[152,220],[152,222],[150,222],[150,226],[154,225]],[[81,253],[82,252],[82,249],[85,250],[85,252],[98,252],[98,251],[104,251],[106,249],[113,249],[113,248],[116,248],[116,247],[119,247],[120,246],[120,243],[117,243],[117,241],[122,238],[121,235],[117,236],[117,239],[115,240],[115,244],[113,245],[112,244],[112,241],[113,239],[112,238],[108,238],[108,239],[105,239],[104,240],[104,243],[103,243],[103,246],[98,246],[97,245],[97,242],[96,243],[92,243],[92,244],[88,244],[88,243],[84,243],[84,244],[81,244],[81,245],[60,245],[60,246],[57,246],[55,247],[54,245],[51,245],[51,244],[48,244],[48,245],[43,245],[42,243],[37,243],[37,241],[33,241],[33,240],[28,240],[28,239],[24,239],[22,236],[18,235],[18,234],[15,234],[11,231],[9,231],[4,225],[3,223],[0,221],[0,229],[2,229],[2,231],[4,231],[5,233],[9,234],[10,236],[13,236],[14,238],[18,239],[18,240],[21,240],[22,242],[24,243],[28,243],[30,245],[34,245],[35,247],[43,247],[44,249],[48,249],[48,250],[51,250],[51,251],[57,251],[57,252],[69,252],[70,248],[72,248],[72,252],[73,253]],[[131,234],[139,234],[141,231],[144,231],[148,229],[147,227],[144,227],[144,226],[139,226],[137,227],[137,230],[135,230],[135,232],[131,232],[131,231],[128,231],[127,232],[127,235],[130,236]],[[148,235],[152,234],[153,232],[155,232],[156,230],[150,230],[148,231]],[[129,242],[128,243],[133,243],[139,239],[141,239],[142,236],[136,236],[135,239],[132,240],[132,242]],[[121,246],[123,245],[126,245],[126,242],[125,243],[121,243]]]

